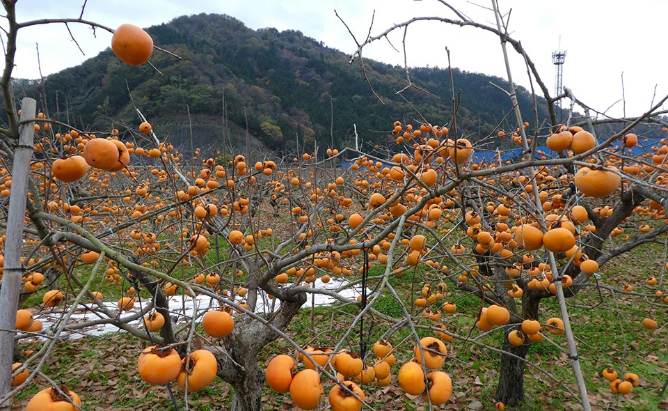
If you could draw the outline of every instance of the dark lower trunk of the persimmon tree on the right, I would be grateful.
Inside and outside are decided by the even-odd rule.
[[[524,368],[529,350],[530,342],[516,347],[508,341],[508,333],[513,329],[507,329],[503,341],[503,350],[511,352],[520,358],[511,355],[501,355],[501,367],[499,370],[499,385],[496,389],[496,400],[505,405],[513,406],[524,400]]]

